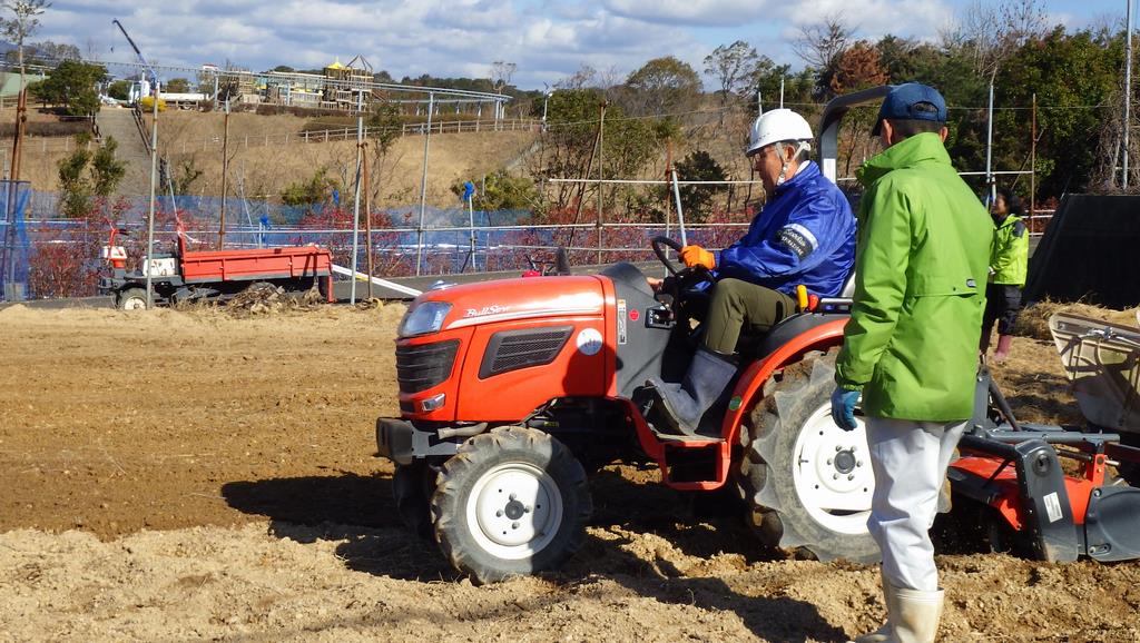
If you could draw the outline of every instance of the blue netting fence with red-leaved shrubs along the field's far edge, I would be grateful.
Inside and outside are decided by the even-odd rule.
[[[105,270],[101,250],[112,221],[121,233],[116,243],[128,251],[129,268],[138,266],[147,252],[147,197],[100,202],[83,220],[62,218],[59,198],[55,193],[25,190],[18,214],[0,221],[0,239],[19,238],[23,249],[5,253],[9,282],[22,282],[30,298],[96,294]],[[536,220],[524,210],[429,206],[421,213],[418,205],[406,205],[375,210],[370,217],[361,212],[357,219],[351,203],[283,206],[236,197],[226,200],[229,217],[222,230],[221,204],[220,197],[157,197],[155,253],[173,250],[180,225],[192,250],[316,244],[328,247],[341,266],[350,266],[355,259],[361,272],[404,277],[521,271],[553,262],[557,247],[567,251],[572,264],[649,261],[654,258],[650,246],[653,237],[681,237],[668,212],[598,215],[592,210],[567,209],[546,212]],[[685,226],[686,241],[709,249],[731,245],[747,230],[754,213],[752,206],[746,205],[734,213],[707,215],[703,222]],[[1042,234],[1051,217],[1052,211],[1026,217],[1031,234]]]

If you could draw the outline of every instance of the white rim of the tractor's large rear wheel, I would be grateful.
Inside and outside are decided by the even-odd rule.
[[[808,417],[796,439],[792,480],[800,504],[813,520],[839,534],[866,534],[874,493],[874,472],[866,429],[855,418],[844,431],[831,420],[831,404]]]

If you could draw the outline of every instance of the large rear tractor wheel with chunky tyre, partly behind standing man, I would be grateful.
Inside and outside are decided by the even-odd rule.
[[[765,384],[742,431],[739,480],[766,544],[821,561],[876,562],[866,433],[862,420],[850,432],[831,420],[837,352],[808,353]]]

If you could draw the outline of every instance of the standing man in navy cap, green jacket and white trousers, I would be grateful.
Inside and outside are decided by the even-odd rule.
[[[906,83],[882,101],[883,147],[860,170],[855,302],[836,361],[832,417],[857,428],[862,393],[887,624],[858,641],[934,641],[943,592],[929,529],[974,410],[993,225],[943,143],[946,103]]]

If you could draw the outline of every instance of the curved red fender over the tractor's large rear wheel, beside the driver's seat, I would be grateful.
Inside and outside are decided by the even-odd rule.
[[[736,380],[736,385],[732,391],[728,413],[725,414],[724,424],[720,426],[720,434],[725,441],[730,445],[734,443],[744,414],[763,397],[764,383],[772,377],[772,374],[789,364],[799,361],[806,352],[826,351],[831,347],[841,344],[847,319],[848,317],[844,316],[813,326],[793,336],[763,359],[750,364]]]

